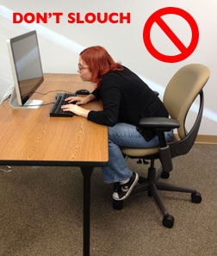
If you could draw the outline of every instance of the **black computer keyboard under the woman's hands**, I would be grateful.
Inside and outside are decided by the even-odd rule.
[[[56,96],[56,102],[53,105],[53,108],[50,111],[50,116],[59,116],[59,117],[71,117],[74,116],[74,113],[71,111],[63,111],[61,109],[62,105],[66,105],[68,103],[65,102],[66,97],[74,97],[76,94],[68,94],[68,93],[58,93]],[[72,103],[73,104],[73,103]]]

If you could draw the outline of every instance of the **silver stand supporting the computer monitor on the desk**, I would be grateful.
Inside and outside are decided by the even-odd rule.
[[[28,100],[22,106],[18,103],[15,88],[11,94],[9,105],[14,109],[40,109],[43,101],[40,100]]]

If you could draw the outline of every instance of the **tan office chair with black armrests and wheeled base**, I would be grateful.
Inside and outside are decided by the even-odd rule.
[[[169,178],[172,170],[171,159],[189,153],[193,147],[198,133],[203,110],[203,86],[207,83],[210,72],[207,66],[200,64],[191,64],[183,66],[171,78],[164,91],[164,106],[169,112],[170,118],[162,117],[146,117],[140,120],[138,129],[144,131],[152,129],[158,134],[159,146],[152,148],[131,148],[121,147],[122,153],[133,159],[143,159],[146,164],[147,160],[151,160],[151,165],[148,168],[147,178],[140,177],[138,184],[133,188],[131,194],[146,190],[148,196],[153,197],[158,204],[159,209],[164,215],[163,225],[166,228],[172,228],[174,217],[169,215],[164,207],[164,203],[158,193],[158,190],[169,190],[191,193],[191,201],[193,203],[201,203],[201,194],[194,190],[181,187],[174,184],[158,182],[159,178]],[[185,128],[185,120],[192,103],[195,98],[200,95],[200,108],[193,127],[188,132]],[[178,136],[173,136],[170,142],[166,142],[164,131],[177,128]],[[161,167],[156,172],[154,160],[159,159]],[[122,209],[123,201],[113,200],[114,209]]]

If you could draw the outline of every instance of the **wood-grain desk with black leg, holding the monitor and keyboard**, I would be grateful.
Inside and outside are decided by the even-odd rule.
[[[78,89],[93,91],[93,84],[78,75],[45,74],[37,91]],[[34,94],[52,103],[58,92]],[[12,109],[9,100],[0,106],[0,165],[80,166],[84,176],[84,255],[90,255],[90,176],[95,166],[109,162],[108,128],[81,116],[50,117],[53,105],[40,109]],[[99,101],[84,105],[100,110]]]

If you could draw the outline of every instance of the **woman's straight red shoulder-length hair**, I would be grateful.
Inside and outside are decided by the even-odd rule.
[[[97,84],[97,87],[100,86],[102,76],[105,73],[111,70],[123,70],[121,64],[116,63],[103,47],[96,46],[86,48],[80,53],[80,56],[87,66],[89,66],[90,72],[92,72],[91,80]]]

